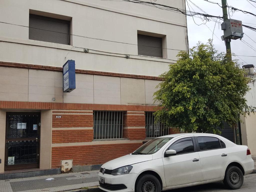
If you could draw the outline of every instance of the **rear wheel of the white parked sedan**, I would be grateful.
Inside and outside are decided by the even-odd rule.
[[[230,189],[239,189],[243,185],[243,173],[236,166],[228,166],[223,180],[224,184]]]

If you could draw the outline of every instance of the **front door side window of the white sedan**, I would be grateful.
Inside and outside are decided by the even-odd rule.
[[[170,149],[175,150],[177,152],[176,155],[195,152],[191,137],[183,138],[176,141],[168,148],[168,150]]]

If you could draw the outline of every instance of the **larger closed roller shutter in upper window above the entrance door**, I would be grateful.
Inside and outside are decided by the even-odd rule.
[[[29,14],[29,39],[69,45],[70,21]]]

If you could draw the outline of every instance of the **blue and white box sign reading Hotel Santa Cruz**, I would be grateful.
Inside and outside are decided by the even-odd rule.
[[[76,89],[75,61],[68,60],[63,65],[63,92],[71,92]]]

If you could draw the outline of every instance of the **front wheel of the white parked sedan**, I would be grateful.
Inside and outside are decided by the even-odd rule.
[[[137,179],[135,192],[161,192],[160,181],[151,174],[145,174]]]

